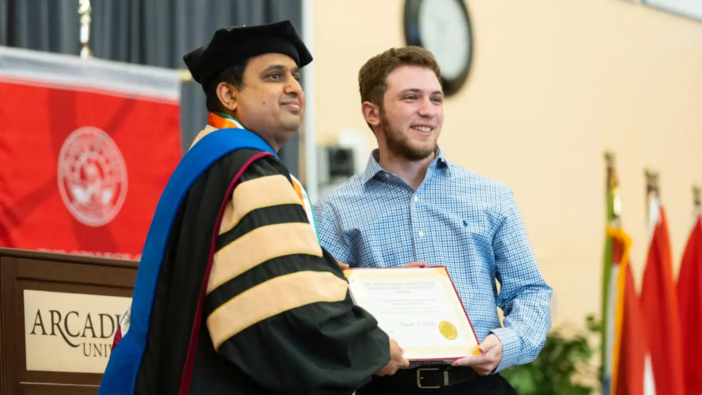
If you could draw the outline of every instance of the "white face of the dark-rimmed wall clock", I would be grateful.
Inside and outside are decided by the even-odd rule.
[[[463,73],[470,57],[470,27],[463,0],[424,0],[419,6],[419,36],[446,79]]]

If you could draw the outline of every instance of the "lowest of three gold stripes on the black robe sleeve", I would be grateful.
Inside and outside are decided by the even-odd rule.
[[[296,307],[339,302],[348,284],[331,272],[295,272],[274,277],[232,297],[207,317],[215,349],[249,326]]]

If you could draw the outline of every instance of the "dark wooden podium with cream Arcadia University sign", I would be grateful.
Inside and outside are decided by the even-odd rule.
[[[97,394],[137,267],[0,248],[0,395]]]

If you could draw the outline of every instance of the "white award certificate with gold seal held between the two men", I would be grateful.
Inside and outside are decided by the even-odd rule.
[[[354,302],[404,348],[409,361],[479,354],[477,336],[443,266],[346,269]]]

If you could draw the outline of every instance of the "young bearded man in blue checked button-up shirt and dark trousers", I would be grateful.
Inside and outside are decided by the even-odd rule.
[[[412,363],[394,376],[373,377],[357,395],[515,394],[498,372],[541,351],[552,290],[511,189],[444,158],[437,146],[444,94],[430,52],[392,48],[371,58],[359,71],[359,89],[378,149],[364,173],[314,205],[320,243],[342,266],[445,265],[482,354],[420,375],[418,368],[436,362]]]

